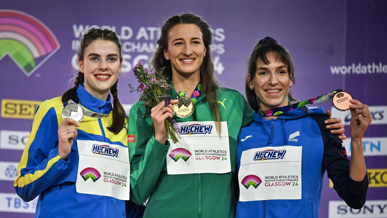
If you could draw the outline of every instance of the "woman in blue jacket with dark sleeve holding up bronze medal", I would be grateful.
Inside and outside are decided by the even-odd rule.
[[[286,48],[270,37],[260,40],[250,56],[246,84],[253,122],[238,137],[236,217],[317,217],[325,170],[348,206],[359,209],[365,203],[368,177],[361,140],[372,121],[368,107],[350,101],[349,161],[342,141],[325,128],[322,108],[289,107],[294,82]]]

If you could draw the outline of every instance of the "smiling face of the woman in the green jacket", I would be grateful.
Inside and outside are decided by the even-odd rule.
[[[176,73],[184,77],[199,75],[205,52],[202,32],[195,24],[178,24],[169,31],[164,57],[171,60],[172,76]]]

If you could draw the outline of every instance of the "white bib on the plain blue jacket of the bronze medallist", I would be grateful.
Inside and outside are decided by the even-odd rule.
[[[301,146],[262,147],[242,152],[239,201],[301,199]]]

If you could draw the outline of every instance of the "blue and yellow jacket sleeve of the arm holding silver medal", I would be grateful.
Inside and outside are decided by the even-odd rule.
[[[53,107],[43,102],[37,109],[31,133],[17,166],[14,187],[24,201],[31,201],[50,187],[66,170],[58,155],[58,119]]]

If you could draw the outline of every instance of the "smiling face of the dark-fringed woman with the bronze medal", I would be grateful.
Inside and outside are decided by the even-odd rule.
[[[265,64],[260,58],[257,59],[257,70],[250,88],[253,87],[255,95],[260,102],[260,110],[266,111],[276,107],[288,105],[289,88],[292,81],[289,78],[286,64],[276,60],[277,55],[273,52],[267,54],[269,64]]]

